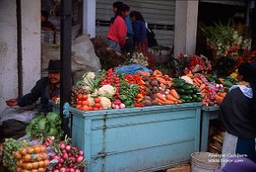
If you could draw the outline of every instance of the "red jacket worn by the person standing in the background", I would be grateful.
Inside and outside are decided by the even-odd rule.
[[[110,28],[106,34],[106,37],[110,40],[118,42],[120,46],[125,45],[125,38],[127,34],[127,28],[125,20],[121,16],[117,16],[114,22],[110,25]]]

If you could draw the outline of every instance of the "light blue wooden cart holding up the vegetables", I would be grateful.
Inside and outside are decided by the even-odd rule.
[[[73,114],[73,144],[91,172],[168,169],[199,151],[202,103],[138,107]]]

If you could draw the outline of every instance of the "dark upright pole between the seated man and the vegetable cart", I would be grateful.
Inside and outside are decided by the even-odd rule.
[[[70,103],[71,96],[71,33],[72,33],[72,1],[61,0],[61,104],[60,113],[62,130],[67,136],[71,136],[68,127],[69,119],[63,116],[64,103]]]

